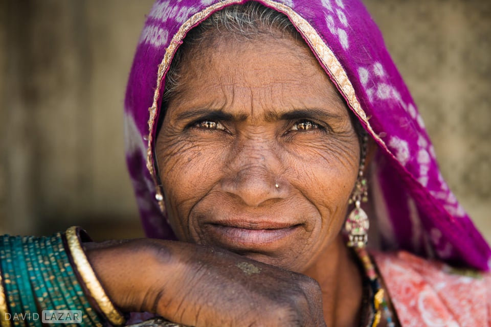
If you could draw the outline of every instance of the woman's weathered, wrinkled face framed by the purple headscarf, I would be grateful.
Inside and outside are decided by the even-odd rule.
[[[291,37],[192,51],[156,148],[177,238],[303,272],[336,248],[358,173],[343,100]]]

